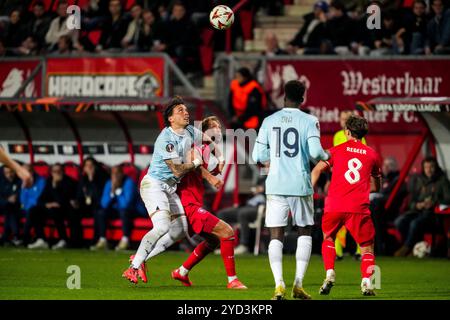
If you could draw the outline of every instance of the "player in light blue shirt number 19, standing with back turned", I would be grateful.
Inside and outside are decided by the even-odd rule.
[[[274,300],[285,299],[283,238],[289,212],[297,226],[296,273],[292,297],[311,299],[303,278],[311,256],[314,224],[309,161],[327,160],[320,144],[319,121],[299,109],[305,86],[297,80],[284,87],[284,108],[265,118],[258,132],[253,160],[269,167],[266,179],[266,227],[270,230],[269,261],[275,279]]]

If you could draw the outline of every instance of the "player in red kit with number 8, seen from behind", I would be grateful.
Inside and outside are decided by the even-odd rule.
[[[329,294],[335,283],[334,240],[338,230],[345,226],[361,247],[362,294],[375,295],[370,280],[375,267],[375,229],[369,211],[369,193],[380,189],[381,161],[375,150],[361,143],[367,132],[366,119],[350,116],[345,125],[347,142],[331,148],[330,160],[319,162],[311,174],[315,186],[320,173],[333,168],[322,218],[322,256],[326,279],[320,287],[320,294]]]

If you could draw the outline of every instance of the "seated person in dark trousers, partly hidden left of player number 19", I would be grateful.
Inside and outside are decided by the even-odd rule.
[[[249,224],[255,221],[258,215],[258,207],[266,203],[264,194],[264,180],[251,188],[253,196],[242,207],[225,208],[217,212],[217,217],[229,224],[239,223],[239,245],[234,249],[234,254],[248,253],[250,246]]]

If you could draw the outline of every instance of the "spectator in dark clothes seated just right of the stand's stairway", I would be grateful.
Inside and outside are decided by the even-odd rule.
[[[321,44],[325,39],[325,22],[328,12],[328,4],[326,1],[317,1],[314,4],[313,12],[304,16],[303,26],[295,35],[287,47],[287,51],[296,54],[299,49],[303,50],[303,54],[318,54]],[[325,48],[322,46],[322,48]]]

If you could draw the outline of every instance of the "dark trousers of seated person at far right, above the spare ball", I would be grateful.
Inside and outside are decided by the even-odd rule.
[[[434,231],[436,217],[433,212],[406,212],[395,220],[395,226],[402,234],[405,245],[413,248],[425,232]]]

